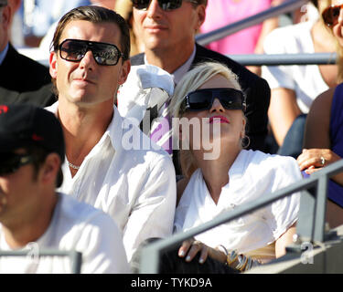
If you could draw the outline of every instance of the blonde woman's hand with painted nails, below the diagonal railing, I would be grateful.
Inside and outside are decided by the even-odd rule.
[[[227,255],[225,255],[218,249],[214,249],[212,247],[209,247],[208,245],[203,244],[198,240],[195,240],[194,238],[190,238],[184,241],[181,247],[178,249],[178,256],[186,256],[187,262],[190,262],[198,253],[200,253],[198,260],[199,264],[205,263],[208,256],[220,261],[221,263],[226,263]]]

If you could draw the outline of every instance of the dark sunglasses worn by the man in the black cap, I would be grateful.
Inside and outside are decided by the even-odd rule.
[[[29,154],[16,154],[13,152],[0,152],[0,175],[16,172],[21,166],[33,162]]]

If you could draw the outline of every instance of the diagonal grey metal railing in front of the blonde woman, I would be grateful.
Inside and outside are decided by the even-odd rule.
[[[190,230],[169,238],[158,240],[142,249],[140,273],[158,273],[159,258],[162,253],[179,246],[184,240],[201,234],[220,224],[225,224],[244,214],[252,213],[257,209],[282,199],[292,193],[301,191],[300,211],[296,224],[296,234],[299,241],[323,242],[326,239],[325,214],[327,206],[327,180],[329,177],[343,171],[343,160],[332,163],[322,170],[312,174],[309,178],[293,183],[282,190],[270,193],[252,203],[245,203],[235,210],[220,214],[213,220],[191,228]],[[316,193],[308,192],[316,189]]]

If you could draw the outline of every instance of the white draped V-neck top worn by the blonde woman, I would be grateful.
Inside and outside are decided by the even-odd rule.
[[[292,157],[242,150],[230,167],[229,183],[222,188],[217,205],[200,169],[193,173],[177,205],[175,232],[206,223],[223,212],[253,202],[301,178]],[[297,220],[298,210],[299,193],[296,193],[196,238],[211,247],[224,245],[228,250],[236,249],[246,254],[272,244],[283,235]]]

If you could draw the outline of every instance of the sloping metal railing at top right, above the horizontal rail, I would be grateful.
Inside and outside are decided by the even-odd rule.
[[[237,21],[228,26],[220,27],[218,29],[210,31],[209,33],[199,34],[198,36],[196,36],[196,41],[199,45],[208,45],[213,41],[219,40],[220,38],[230,36],[240,31],[241,29],[258,25],[267,18],[276,17],[288,12],[292,12],[302,5],[305,5],[307,2],[308,0],[289,0],[281,5],[274,6],[257,15],[244,18],[241,21]]]

